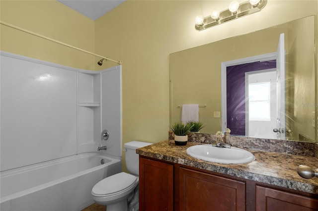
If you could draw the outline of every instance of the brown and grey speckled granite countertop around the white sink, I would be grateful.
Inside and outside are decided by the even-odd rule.
[[[137,154],[270,185],[318,194],[318,177],[304,179],[297,173],[297,167],[301,164],[317,168],[318,158],[245,149],[255,156],[254,161],[246,164],[220,164],[193,158],[186,154],[188,147],[198,144],[200,143],[188,141],[186,146],[176,146],[173,140],[163,141],[139,148],[137,149]]]

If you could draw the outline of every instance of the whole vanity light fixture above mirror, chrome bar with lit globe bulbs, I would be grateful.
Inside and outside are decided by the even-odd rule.
[[[242,3],[232,1],[229,5],[229,9],[221,12],[213,11],[211,15],[206,17],[197,16],[195,20],[195,29],[202,31],[230,20],[259,12],[265,7],[266,3],[267,0],[248,0]]]

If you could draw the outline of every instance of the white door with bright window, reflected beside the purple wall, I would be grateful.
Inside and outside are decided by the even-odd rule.
[[[276,69],[245,73],[245,135],[276,139]]]

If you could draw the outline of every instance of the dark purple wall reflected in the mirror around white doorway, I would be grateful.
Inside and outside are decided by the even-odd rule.
[[[276,68],[276,60],[227,67],[227,127],[245,135],[245,72]]]

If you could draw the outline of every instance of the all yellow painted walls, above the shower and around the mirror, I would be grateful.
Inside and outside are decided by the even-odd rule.
[[[258,13],[208,30],[198,14],[229,1],[127,0],[95,22],[55,0],[1,0],[1,21],[123,61],[123,142],[167,139],[169,54],[317,14],[317,0],[268,0]],[[214,7],[214,8],[215,8]],[[317,24],[317,23],[316,23]],[[1,51],[83,69],[96,59],[1,26]],[[105,62],[105,66],[113,65]],[[317,64],[316,64],[317,65]]]

